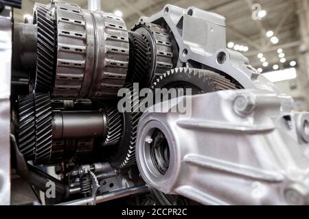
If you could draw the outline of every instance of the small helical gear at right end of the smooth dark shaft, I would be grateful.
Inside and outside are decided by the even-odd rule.
[[[122,116],[118,112],[117,107],[107,107],[107,135],[103,142],[104,146],[115,145],[122,136]]]

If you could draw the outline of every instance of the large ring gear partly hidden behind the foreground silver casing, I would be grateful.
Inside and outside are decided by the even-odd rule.
[[[168,86],[168,87],[167,87]],[[174,68],[159,76],[151,88],[192,88],[192,94],[213,92],[216,90],[236,89],[236,86],[218,73],[211,70],[196,68]],[[127,168],[135,164],[135,143],[137,138],[137,124],[141,112],[135,112],[139,105],[139,95],[132,85],[128,85],[132,99],[130,99],[131,112],[124,112],[124,133],[119,141],[119,149],[113,166]],[[114,160],[114,159],[113,159]]]

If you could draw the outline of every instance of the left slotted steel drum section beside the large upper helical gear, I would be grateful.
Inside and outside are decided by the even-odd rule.
[[[91,15],[79,5],[55,1],[57,28],[57,60],[54,96],[77,97],[86,72],[92,69],[87,57],[93,56],[95,44],[87,32]],[[92,24],[91,24],[92,25]],[[87,41],[88,40],[88,41]],[[89,60],[91,62],[91,60]]]

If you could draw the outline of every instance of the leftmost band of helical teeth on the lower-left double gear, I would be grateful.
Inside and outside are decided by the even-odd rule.
[[[35,149],[35,112],[33,94],[18,101],[18,145],[26,160],[34,159]]]

